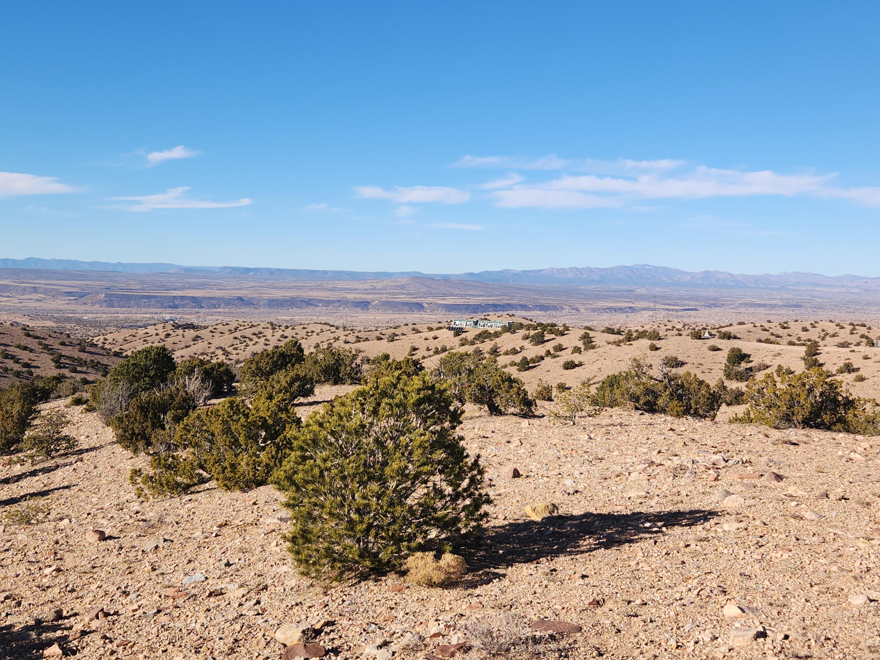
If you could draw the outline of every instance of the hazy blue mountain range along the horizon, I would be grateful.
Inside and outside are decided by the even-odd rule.
[[[535,270],[483,270],[479,273],[430,274],[407,272],[364,272],[354,270],[306,270],[299,268],[246,268],[238,266],[180,266],[171,263],[109,263],[66,259],[0,259],[0,268],[26,270],[76,270],[126,274],[179,273],[181,275],[230,275],[234,277],[279,279],[292,282],[363,282],[424,277],[460,282],[496,284],[555,284],[578,287],[685,287],[723,289],[846,289],[880,290],[880,277],[859,275],[817,275],[780,273],[779,275],[737,275],[718,270],[698,273],[635,264],[611,268],[539,268]]]

